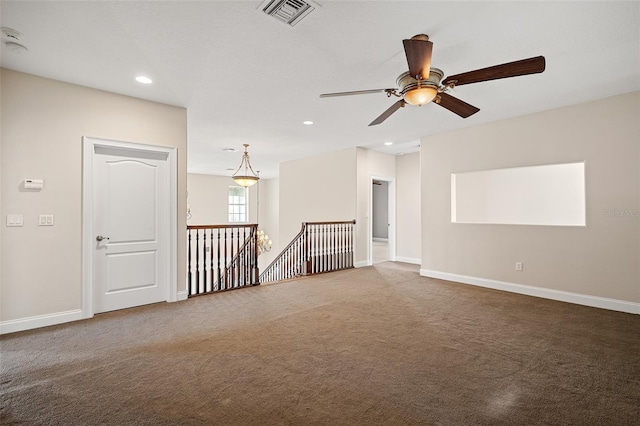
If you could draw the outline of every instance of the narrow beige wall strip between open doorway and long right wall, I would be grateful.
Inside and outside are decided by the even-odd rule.
[[[396,260],[420,264],[420,153],[396,157]]]

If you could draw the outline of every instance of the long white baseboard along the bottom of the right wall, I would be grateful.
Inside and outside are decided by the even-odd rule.
[[[509,283],[505,281],[489,280],[486,278],[470,277],[467,275],[451,274],[449,272],[430,271],[428,269],[420,269],[420,275],[423,277],[438,278],[441,280],[471,284],[479,287],[492,288],[495,290],[509,291],[511,293],[526,294],[527,296],[558,300],[560,302],[575,303],[578,305],[609,309],[612,311],[627,312],[630,314],[640,314],[640,303],[627,302],[625,300],[608,299],[606,297],[571,293],[562,290],[553,290],[549,288]]]

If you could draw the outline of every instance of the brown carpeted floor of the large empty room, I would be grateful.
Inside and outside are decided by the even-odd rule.
[[[638,425],[640,316],[385,262],[0,337],[3,425]]]

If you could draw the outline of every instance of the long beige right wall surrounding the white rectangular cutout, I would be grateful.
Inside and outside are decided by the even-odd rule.
[[[633,307],[640,302],[639,128],[635,92],[423,138],[421,273]],[[575,161],[586,163],[586,227],[450,221],[452,172]],[[522,272],[515,271],[515,262],[524,263]]]

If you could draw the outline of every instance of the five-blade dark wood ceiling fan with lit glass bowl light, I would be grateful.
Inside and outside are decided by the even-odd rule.
[[[517,77],[521,75],[537,74],[544,71],[544,56],[522,59],[508,62],[506,64],[494,65],[492,67],[481,68],[462,74],[450,75],[444,80],[444,73],[438,68],[431,67],[431,50],[433,43],[429,41],[429,36],[418,34],[408,40],[402,40],[404,52],[407,57],[409,71],[400,74],[396,80],[398,88],[394,89],[372,89],[356,90],[352,92],[324,93],[321,98],[334,96],[363,95],[367,93],[385,92],[387,97],[396,96],[401,98],[391,105],[378,118],[373,120],[369,126],[375,126],[389,118],[391,114],[403,108],[406,104],[422,106],[429,102],[435,102],[443,108],[458,114],[462,118],[467,118],[479,108],[474,107],[460,99],[451,96],[447,92],[455,86],[463,84],[479,83],[482,81],[498,80],[501,78]],[[442,81],[440,81],[442,80]]]

